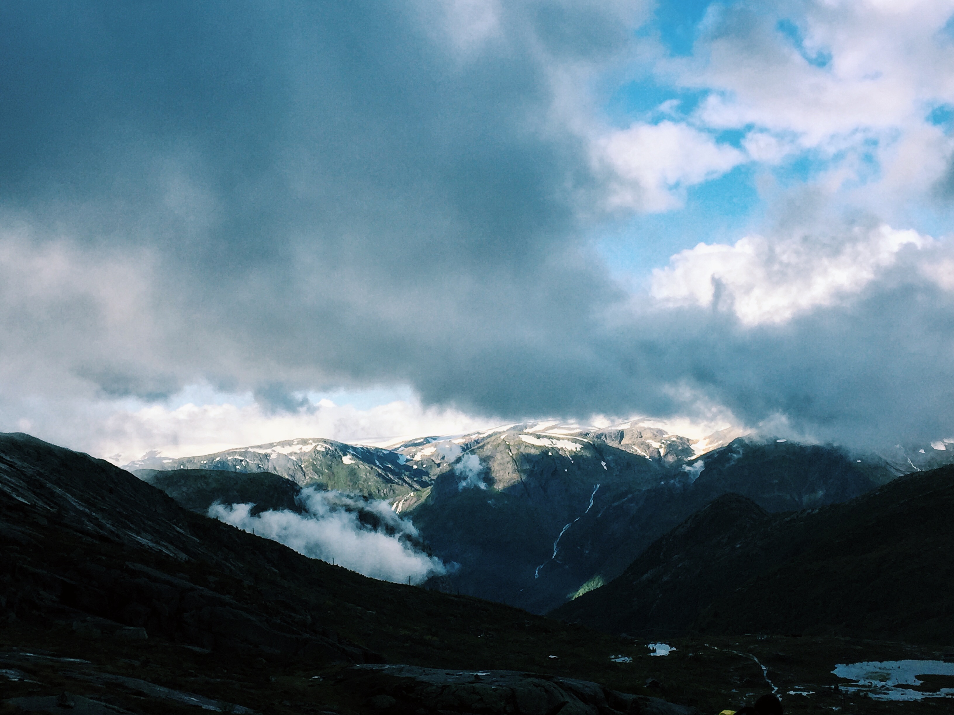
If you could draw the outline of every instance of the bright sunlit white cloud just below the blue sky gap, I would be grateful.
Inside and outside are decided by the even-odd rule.
[[[652,294],[670,305],[728,310],[745,325],[782,323],[859,293],[905,246],[930,244],[929,236],[885,225],[847,235],[700,243],[653,272]]]

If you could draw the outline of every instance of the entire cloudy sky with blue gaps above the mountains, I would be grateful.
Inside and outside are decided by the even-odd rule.
[[[952,18],[4,3],[0,430],[954,436]]]

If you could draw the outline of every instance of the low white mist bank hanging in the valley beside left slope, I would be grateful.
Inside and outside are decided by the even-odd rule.
[[[252,516],[255,504],[216,503],[209,507],[209,516],[372,579],[421,583],[446,574],[444,563],[415,546],[414,524],[391,511],[386,501],[363,501],[312,488],[301,490],[300,499],[302,514],[263,511]],[[362,512],[372,514],[376,523],[364,523]]]

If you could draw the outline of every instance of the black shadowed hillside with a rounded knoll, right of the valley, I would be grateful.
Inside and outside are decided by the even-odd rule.
[[[553,615],[633,634],[954,641],[952,510],[954,467],[796,513],[727,495]]]

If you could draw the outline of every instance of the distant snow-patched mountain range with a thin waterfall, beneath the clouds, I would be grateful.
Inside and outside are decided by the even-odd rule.
[[[944,442],[887,452],[892,460],[731,431],[687,439],[639,422],[544,422],[389,449],[292,439],[201,457],[153,455],[126,467],[140,476],[157,468],[270,471],[301,486],[386,499],[413,521],[427,553],[446,563],[430,587],[545,613],[612,581],[722,494],[769,512],[798,510],[847,501],[919,463],[954,458]],[[218,494],[223,503],[235,499]]]

